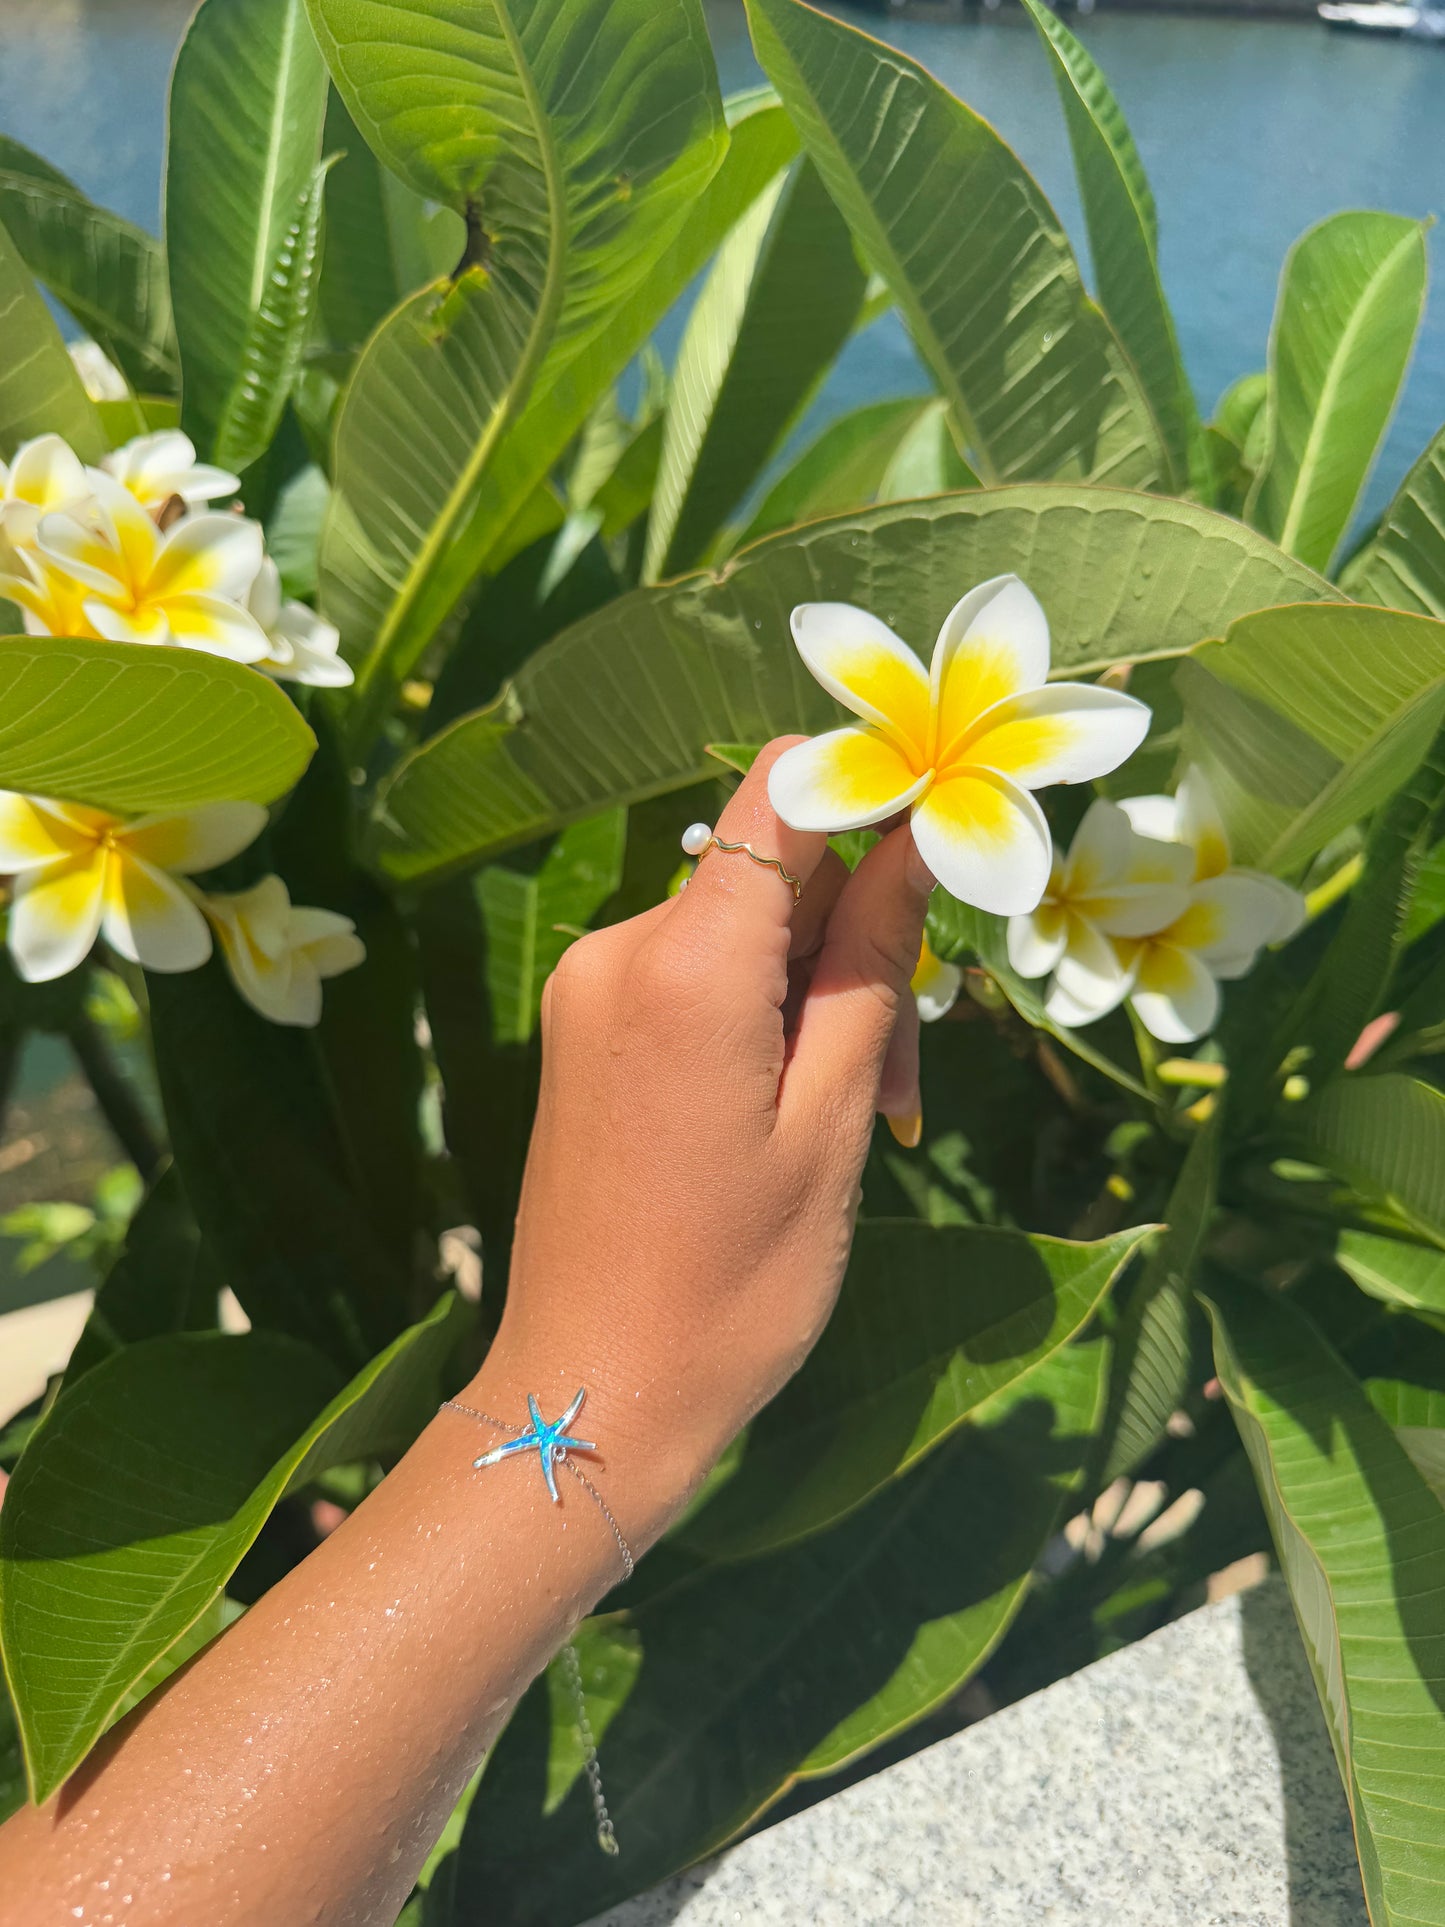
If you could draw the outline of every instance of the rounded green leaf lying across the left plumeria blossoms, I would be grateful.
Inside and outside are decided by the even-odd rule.
[[[0,788],[135,815],[270,804],[314,748],[270,676],[220,655],[0,636]]]

